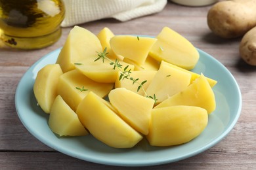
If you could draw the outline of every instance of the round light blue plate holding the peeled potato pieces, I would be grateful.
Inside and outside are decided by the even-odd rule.
[[[209,124],[203,133],[186,144],[172,147],[150,146],[146,140],[134,148],[110,148],[91,135],[86,137],[59,138],[49,129],[49,115],[38,106],[33,95],[33,83],[39,69],[55,63],[60,49],[54,50],[33,64],[20,80],[16,89],[15,105],[22,124],[39,141],[64,154],[81,160],[106,165],[146,166],[183,160],[211,148],[221,141],[234,127],[242,108],[240,89],[234,77],[219,61],[202,50],[194,69],[196,73],[218,81],[213,88],[217,109],[209,115]]]

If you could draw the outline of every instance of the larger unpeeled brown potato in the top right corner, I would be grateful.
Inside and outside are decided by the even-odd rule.
[[[256,26],[256,1],[220,1],[207,14],[209,29],[226,39],[243,36]]]

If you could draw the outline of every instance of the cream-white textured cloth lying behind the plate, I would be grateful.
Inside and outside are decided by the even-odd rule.
[[[63,0],[66,14],[62,27],[103,18],[121,22],[160,12],[167,0]]]

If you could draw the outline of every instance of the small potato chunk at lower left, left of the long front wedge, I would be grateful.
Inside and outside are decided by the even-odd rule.
[[[51,107],[49,127],[60,136],[84,136],[88,131],[79,121],[77,114],[58,95]]]

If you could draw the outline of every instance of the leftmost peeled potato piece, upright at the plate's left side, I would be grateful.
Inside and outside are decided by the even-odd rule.
[[[53,101],[57,96],[57,83],[62,70],[58,64],[49,64],[43,67],[35,78],[33,92],[37,103],[45,113],[49,113]]]

